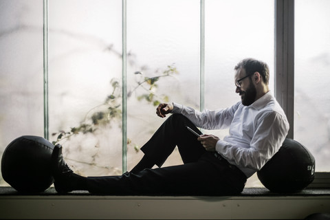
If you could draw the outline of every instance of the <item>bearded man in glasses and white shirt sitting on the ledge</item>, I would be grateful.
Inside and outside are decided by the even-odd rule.
[[[62,148],[52,155],[58,192],[89,190],[109,195],[228,195],[243,190],[285,140],[289,123],[268,87],[267,64],[252,58],[234,68],[241,102],[227,109],[197,111],[181,104],[159,104],[159,117],[170,117],[144,146],[144,157],[121,176],[82,177],[65,164]],[[200,134],[193,135],[186,126]],[[199,129],[230,128],[220,140]],[[184,164],[161,167],[178,147]],[[154,165],[159,168],[154,168]]]

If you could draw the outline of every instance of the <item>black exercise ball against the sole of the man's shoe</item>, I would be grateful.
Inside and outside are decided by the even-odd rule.
[[[53,149],[43,137],[18,137],[3,152],[3,179],[19,192],[43,192],[54,182],[50,164]]]

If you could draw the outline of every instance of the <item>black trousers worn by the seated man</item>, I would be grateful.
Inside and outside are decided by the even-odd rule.
[[[208,152],[186,125],[201,133],[180,114],[171,115],[141,150],[159,168],[121,176],[88,177],[89,192],[107,195],[233,195],[243,190],[244,173],[221,155]],[[161,168],[178,147],[184,164]]]

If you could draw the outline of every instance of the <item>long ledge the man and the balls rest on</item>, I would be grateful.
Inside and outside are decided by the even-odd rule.
[[[277,194],[265,188],[245,188],[241,195],[108,196],[85,191],[21,195],[0,188],[0,219],[304,219],[329,212],[330,189],[306,189]]]

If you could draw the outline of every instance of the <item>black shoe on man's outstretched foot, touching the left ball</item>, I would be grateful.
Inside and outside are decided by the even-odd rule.
[[[74,190],[74,172],[67,166],[62,154],[61,144],[56,144],[52,153],[52,172],[55,190],[60,193]]]

